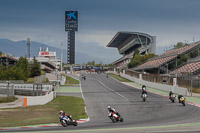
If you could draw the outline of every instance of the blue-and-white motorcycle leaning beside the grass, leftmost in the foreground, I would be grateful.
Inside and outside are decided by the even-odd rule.
[[[77,121],[73,120],[71,116],[60,116],[59,120],[63,127],[67,127],[68,125],[78,125]]]

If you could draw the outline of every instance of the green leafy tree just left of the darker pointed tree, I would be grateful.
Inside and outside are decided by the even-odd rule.
[[[26,77],[26,80],[27,80],[30,75],[29,62],[28,62],[27,58],[20,57],[19,61],[17,62],[17,67],[23,71],[23,73]]]

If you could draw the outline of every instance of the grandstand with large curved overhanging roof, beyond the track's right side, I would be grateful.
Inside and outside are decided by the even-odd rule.
[[[117,69],[126,69],[127,64],[136,49],[140,54],[156,52],[156,37],[140,32],[118,32],[108,43],[107,47],[117,48],[122,58],[114,61],[112,64]]]

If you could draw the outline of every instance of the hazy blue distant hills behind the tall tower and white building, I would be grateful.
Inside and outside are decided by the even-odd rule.
[[[88,46],[89,45],[89,46]],[[116,55],[113,55],[113,49],[104,48],[98,45],[77,45],[76,46],[76,63],[82,64],[87,63],[88,61],[94,60],[99,63],[111,63],[115,61],[119,55],[115,52]],[[57,57],[60,58],[60,48],[52,47],[47,44],[39,43],[32,41],[31,42],[31,57],[38,57],[38,52],[40,47],[48,47],[49,51],[56,51]],[[20,57],[28,55],[26,41],[14,42],[8,39],[0,39],[0,51],[4,53],[10,53],[14,57]],[[80,52],[81,51],[81,52]],[[63,61],[66,62],[66,50],[63,53]]]

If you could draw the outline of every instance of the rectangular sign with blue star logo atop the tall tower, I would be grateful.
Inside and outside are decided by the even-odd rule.
[[[65,31],[78,31],[78,11],[65,11]]]

